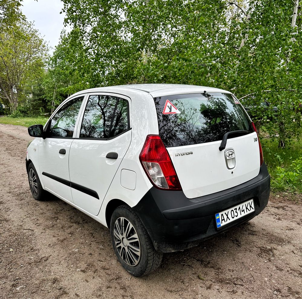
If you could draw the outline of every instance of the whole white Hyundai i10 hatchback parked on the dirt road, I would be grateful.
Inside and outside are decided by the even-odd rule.
[[[267,205],[256,129],[226,90],[177,84],[93,88],[28,128],[32,195],[48,191],[110,228],[135,276],[164,252],[246,222]]]

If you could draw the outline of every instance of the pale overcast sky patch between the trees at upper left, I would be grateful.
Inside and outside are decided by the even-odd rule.
[[[34,27],[48,42],[52,53],[59,43],[60,33],[64,28],[65,14],[60,14],[63,3],[60,0],[23,0],[21,4],[22,13],[28,21],[34,22]]]

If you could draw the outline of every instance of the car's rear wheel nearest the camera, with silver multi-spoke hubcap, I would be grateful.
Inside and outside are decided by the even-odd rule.
[[[115,254],[130,274],[147,275],[161,264],[163,254],[155,250],[140,218],[130,207],[121,205],[114,210],[110,234]]]

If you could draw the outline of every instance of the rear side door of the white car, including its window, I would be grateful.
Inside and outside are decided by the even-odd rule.
[[[89,94],[69,155],[73,203],[98,215],[131,142],[131,101],[116,94]]]

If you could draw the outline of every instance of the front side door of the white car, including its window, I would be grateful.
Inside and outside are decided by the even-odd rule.
[[[69,177],[69,150],[76,134],[77,119],[84,96],[75,97],[54,113],[39,143],[41,181],[47,191],[72,201]]]

